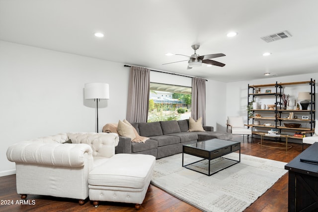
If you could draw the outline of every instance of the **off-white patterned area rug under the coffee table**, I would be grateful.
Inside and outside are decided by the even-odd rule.
[[[226,155],[238,160],[238,153]],[[200,160],[184,154],[184,164]],[[228,160],[217,159],[220,165]],[[204,169],[207,162],[197,168]],[[286,163],[241,154],[241,162],[212,176],[182,167],[182,153],[156,161],[151,184],[206,212],[242,212],[264,194],[287,170]],[[192,167],[193,168],[193,167]]]

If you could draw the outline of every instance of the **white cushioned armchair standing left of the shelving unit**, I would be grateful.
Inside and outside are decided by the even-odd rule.
[[[243,122],[243,116],[228,116],[227,132],[228,130],[231,130],[230,132],[232,134],[243,135],[243,140],[244,135],[247,135],[248,139],[248,135],[252,134],[252,130],[245,126],[246,124]]]

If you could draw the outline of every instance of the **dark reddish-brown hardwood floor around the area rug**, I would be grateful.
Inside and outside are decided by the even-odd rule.
[[[284,149],[261,147],[259,139],[242,141],[242,136],[233,140],[241,142],[241,153],[257,157],[289,162],[302,152],[302,144],[291,143],[292,148]],[[307,147],[307,146],[306,146]],[[305,148],[306,148],[305,147]],[[19,204],[20,195],[16,193],[15,175],[0,177],[0,212],[134,212],[133,204],[101,202],[94,208],[89,200],[79,206],[77,200],[28,195],[30,205]],[[33,204],[33,205],[32,205]],[[198,212],[200,210],[150,185],[140,212]],[[288,173],[279,179],[265,194],[258,198],[245,212],[287,212],[288,211]]]

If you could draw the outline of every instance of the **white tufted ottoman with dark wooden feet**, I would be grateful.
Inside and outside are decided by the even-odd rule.
[[[140,209],[155,164],[152,155],[115,154],[89,173],[89,199],[96,208],[99,201],[108,201],[134,203]]]

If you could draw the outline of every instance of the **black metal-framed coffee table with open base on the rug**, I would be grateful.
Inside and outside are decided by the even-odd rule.
[[[210,170],[211,169],[210,168],[211,160],[222,157],[222,156],[227,155],[231,152],[236,152],[236,151],[239,151],[239,160],[224,158],[226,160],[234,161],[234,163],[231,163],[230,165],[227,165],[225,167],[221,167],[217,170],[214,170],[211,173],[211,170]],[[203,159],[184,165],[183,164],[183,154],[184,153],[189,154],[189,155],[193,155],[193,156],[197,156],[197,157],[200,157]],[[208,174],[189,167],[192,164],[195,164],[195,163],[198,163],[198,162],[204,161],[204,160],[209,160]],[[182,147],[182,167],[185,167],[187,169],[190,169],[190,170],[193,170],[193,171],[196,171],[196,172],[208,175],[208,176],[211,176],[211,175],[213,175],[213,174],[215,174],[223,169],[226,169],[230,166],[233,166],[239,162],[240,162],[240,142],[237,142],[237,141],[211,139],[211,140],[199,141],[197,143],[186,144],[186,145],[183,145],[183,147]]]

